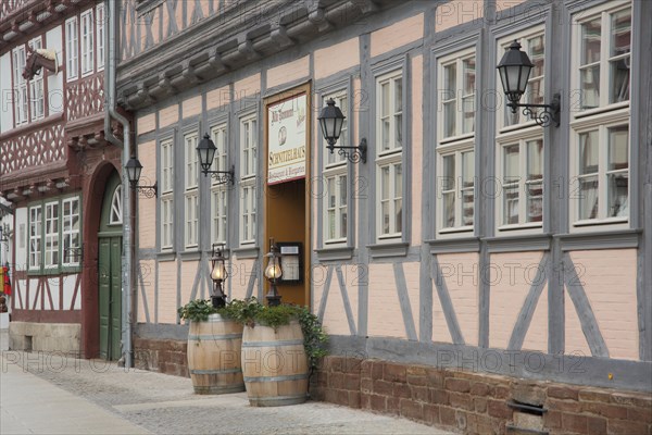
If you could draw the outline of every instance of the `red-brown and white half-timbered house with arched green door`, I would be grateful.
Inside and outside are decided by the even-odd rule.
[[[120,297],[111,306],[102,287],[110,273],[120,276],[122,252],[122,148],[104,126],[104,8],[1,3],[0,195],[14,210],[12,349],[121,355]],[[105,245],[106,252],[98,249]],[[120,279],[116,288],[120,295]]]

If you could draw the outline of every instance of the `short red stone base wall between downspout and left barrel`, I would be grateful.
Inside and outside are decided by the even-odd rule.
[[[152,372],[190,377],[187,349],[187,341],[136,337],[134,365]]]

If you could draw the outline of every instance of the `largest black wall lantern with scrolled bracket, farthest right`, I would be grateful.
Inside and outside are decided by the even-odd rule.
[[[559,92],[553,96],[550,104],[518,103],[521,97],[525,94],[527,79],[534,66],[527,53],[521,51],[521,44],[516,40],[512,42],[510,49],[505,51],[497,66],[503,89],[507,96],[507,100],[510,100],[507,105],[512,109],[512,113],[516,113],[517,108],[524,108],[523,114],[530,116],[542,127],[548,127],[552,123],[559,127],[562,105],[562,96]],[[532,108],[541,108],[543,110],[534,111]]]

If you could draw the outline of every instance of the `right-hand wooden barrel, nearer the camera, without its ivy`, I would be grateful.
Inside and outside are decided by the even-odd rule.
[[[278,326],[246,326],[242,373],[253,407],[302,403],[308,398],[308,358],[299,322]]]

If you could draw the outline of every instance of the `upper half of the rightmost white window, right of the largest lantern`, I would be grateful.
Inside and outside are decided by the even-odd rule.
[[[576,83],[580,111],[629,100],[631,7],[622,4],[581,14],[579,26],[574,26],[579,39],[574,59],[579,60]]]

